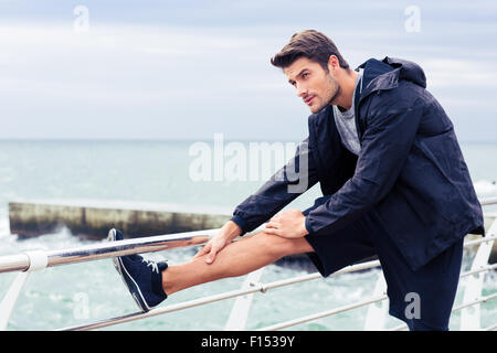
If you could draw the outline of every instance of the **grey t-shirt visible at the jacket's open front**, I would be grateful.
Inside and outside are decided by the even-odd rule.
[[[356,90],[358,85],[361,85],[359,87],[359,93],[362,90],[362,69],[360,69],[357,73],[356,78],[356,87],[353,89],[353,96],[352,96],[352,106],[350,109],[346,111],[340,111],[337,106],[334,107],[334,115],[335,115],[335,122],[337,125],[338,132],[340,133],[341,143],[353,154],[359,156],[359,152],[361,150],[361,145],[359,143],[359,137],[357,135],[357,128],[356,128],[356,114],[355,114],[355,98],[356,98]]]

